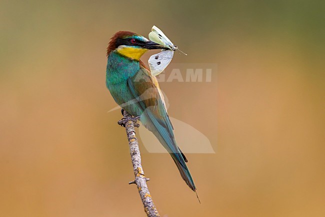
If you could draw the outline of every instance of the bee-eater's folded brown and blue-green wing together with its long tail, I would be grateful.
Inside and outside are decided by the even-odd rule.
[[[173,127],[169,120],[163,96],[155,77],[150,76],[145,68],[140,68],[136,75],[127,80],[127,86],[141,108],[140,121],[160,141],[174,160],[181,177],[186,184],[196,190],[194,181],[185,164],[185,156],[176,145]]]

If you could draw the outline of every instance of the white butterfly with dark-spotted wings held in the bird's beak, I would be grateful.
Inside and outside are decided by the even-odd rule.
[[[166,48],[161,50],[160,53],[152,55],[148,60],[151,75],[157,76],[169,65],[174,51],[178,50],[178,48],[156,26],[152,27],[149,39]]]

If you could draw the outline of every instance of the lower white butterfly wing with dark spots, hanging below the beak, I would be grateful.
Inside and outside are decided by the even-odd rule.
[[[172,50],[162,50],[160,53],[152,55],[148,60],[151,75],[159,75],[169,65],[173,55]]]

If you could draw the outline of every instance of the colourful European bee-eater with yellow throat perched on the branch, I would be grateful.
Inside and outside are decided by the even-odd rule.
[[[181,177],[196,192],[178,148],[157,79],[140,60],[148,50],[162,49],[159,44],[138,34],[120,31],[112,36],[107,48],[106,86],[115,102],[151,131],[174,160]]]

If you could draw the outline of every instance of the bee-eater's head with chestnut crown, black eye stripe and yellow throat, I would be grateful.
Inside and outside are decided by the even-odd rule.
[[[107,56],[110,52],[117,52],[133,60],[139,60],[148,50],[162,49],[163,46],[147,40],[145,37],[127,31],[115,33],[108,44]]]

